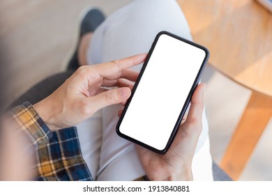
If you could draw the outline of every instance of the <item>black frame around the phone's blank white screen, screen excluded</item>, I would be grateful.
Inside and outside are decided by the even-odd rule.
[[[153,148],[153,147],[151,147],[151,146],[149,146],[149,145],[147,145],[147,144],[145,144],[145,143],[142,143],[142,142],[140,142],[140,141],[137,141],[136,139],[133,139],[133,138],[131,138],[131,137],[128,137],[126,134],[122,134],[122,133],[120,132],[120,130],[119,130],[119,127],[120,127],[120,125],[121,125],[121,123],[122,123],[123,117],[124,117],[125,114],[126,114],[126,111],[127,111],[127,109],[128,109],[128,106],[129,106],[129,104],[130,104],[130,101],[131,101],[132,98],[133,98],[133,95],[134,95],[134,93],[135,93],[135,91],[136,91],[136,88],[137,88],[137,86],[138,86],[138,84],[139,84],[139,81],[140,81],[141,78],[142,78],[142,75],[143,75],[143,73],[144,73],[144,70],[145,70],[145,68],[146,68],[146,65],[149,63],[149,59],[150,59],[150,57],[151,57],[151,55],[152,55],[153,49],[156,47],[156,43],[158,42],[158,39],[160,38],[160,36],[163,35],[163,34],[166,34],[167,36],[172,36],[173,38],[176,38],[176,39],[181,40],[181,41],[183,41],[183,42],[186,42],[186,43],[188,43],[188,44],[190,44],[190,45],[193,45],[193,46],[195,46],[195,47],[198,47],[198,48],[200,48],[200,49],[203,49],[204,52],[206,53],[206,56],[205,56],[205,59],[204,59],[202,65],[201,65],[201,68],[199,69],[199,72],[197,73],[197,77],[195,78],[195,81],[194,81],[194,83],[192,84],[192,88],[190,89],[190,93],[189,93],[188,97],[186,98],[186,102],[185,102],[185,104],[183,105],[183,108],[181,109],[181,113],[180,113],[180,115],[179,115],[178,120],[176,121],[176,125],[174,126],[174,129],[173,129],[173,131],[172,131],[172,134],[171,134],[171,136],[169,137],[169,140],[168,140],[168,142],[167,142],[167,145],[165,146],[165,148],[164,148],[163,150],[158,150],[158,149]],[[179,37],[179,36],[176,36],[176,35],[174,35],[174,34],[172,34],[172,33],[167,32],[167,31],[161,31],[160,33],[158,33],[158,35],[156,36],[155,40],[153,41],[153,44],[151,45],[151,49],[149,50],[149,53],[148,53],[147,56],[146,56],[146,60],[144,61],[144,64],[143,64],[143,66],[142,66],[142,69],[141,69],[141,71],[139,72],[139,77],[137,78],[137,81],[135,82],[135,85],[134,85],[134,87],[133,87],[133,90],[132,90],[132,93],[131,93],[131,95],[130,95],[130,98],[128,98],[128,101],[126,102],[126,105],[125,105],[125,107],[124,107],[124,109],[123,109],[123,112],[122,112],[122,114],[121,114],[121,116],[120,116],[120,118],[119,118],[119,121],[118,121],[117,125],[116,125],[116,133],[117,133],[120,137],[122,137],[123,139],[127,139],[128,141],[132,141],[133,143],[136,143],[136,144],[138,144],[139,146],[142,146],[142,147],[147,148],[147,149],[149,149],[149,150],[152,150],[152,151],[155,152],[155,153],[165,154],[165,153],[167,152],[167,150],[169,149],[169,147],[171,146],[171,144],[172,144],[172,142],[173,142],[173,140],[174,140],[174,137],[176,136],[176,132],[177,132],[177,130],[179,129],[179,125],[181,124],[181,120],[182,120],[182,118],[183,118],[183,116],[184,116],[184,114],[185,114],[185,112],[186,112],[186,109],[188,108],[189,102],[190,102],[190,100],[191,100],[191,98],[192,98],[192,94],[194,93],[195,88],[197,87],[197,84],[199,83],[199,80],[200,80],[200,78],[201,78],[201,76],[202,76],[202,73],[203,73],[203,71],[204,71],[204,68],[205,68],[206,63],[207,63],[208,60],[209,60],[209,50],[206,49],[206,47],[203,47],[202,45],[198,45],[197,43],[192,42],[192,41],[190,41],[190,40],[186,40],[185,38],[181,38],[181,37]]]

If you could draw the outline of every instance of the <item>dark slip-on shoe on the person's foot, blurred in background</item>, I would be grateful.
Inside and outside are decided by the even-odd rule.
[[[93,32],[104,20],[105,16],[96,8],[93,8],[86,13],[80,24],[80,38],[77,42],[77,48],[68,63],[67,70],[77,70],[77,68],[80,67],[80,63],[77,59],[77,50],[80,45],[80,39],[84,34]]]

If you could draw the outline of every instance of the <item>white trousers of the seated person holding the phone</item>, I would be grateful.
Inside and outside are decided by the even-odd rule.
[[[174,0],[135,0],[107,17],[93,33],[87,51],[89,64],[103,63],[148,52],[160,31],[192,40],[190,29]],[[142,65],[134,67],[140,70]],[[116,132],[121,105],[106,107],[77,125],[83,157],[96,180],[135,180],[144,176],[135,146]],[[195,180],[213,180],[209,127],[203,115],[203,131],[192,162]]]

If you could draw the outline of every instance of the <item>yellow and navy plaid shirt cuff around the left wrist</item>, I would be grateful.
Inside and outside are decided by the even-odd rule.
[[[27,134],[36,148],[49,143],[52,132],[29,102],[24,102],[10,112],[17,125]]]

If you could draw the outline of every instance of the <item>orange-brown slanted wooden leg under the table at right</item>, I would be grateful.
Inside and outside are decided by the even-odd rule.
[[[220,167],[237,180],[272,116],[272,97],[252,92]]]

